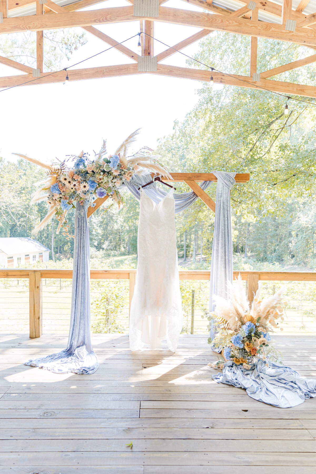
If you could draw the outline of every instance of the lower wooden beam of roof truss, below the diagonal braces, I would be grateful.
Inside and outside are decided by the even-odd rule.
[[[85,79],[98,79],[104,77],[117,77],[132,74],[145,74],[138,72],[137,64],[118,64],[114,66],[91,67],[86,69],[68,69],[70,81],[81,81]],[[158,64],[157,71],[149,74],[158,74],[169,77],[179,77],[192,79],[195,81],[210,81],[210,72],[202,69],[190,69],[186,67],[169,66],[167,64]],[[214,82],[217,84],[233,85],[238,87],[247,87],[251,89],[267,90],[272,92],[300,95],[303,97],[312,97],[316,99],[316,87],[305,84],[294,84],[291,82],[271,81],[270,79],[261,79],[260,82],[253,82],[249,76],[239,76],[237,74],[226,75],[224,73],[212,73]],[[28,82],[30,81],[30,82]],[[34,79],[31,74],[19,76],[0,77],[0,88],[22,85],[49,84],[65,81],[65,72],[58,71],[54,74],[43,73],[40,78]]]

